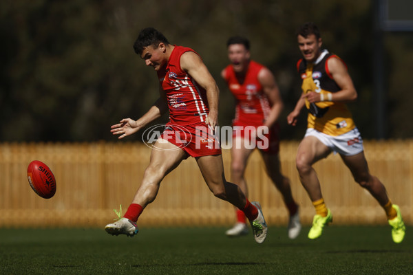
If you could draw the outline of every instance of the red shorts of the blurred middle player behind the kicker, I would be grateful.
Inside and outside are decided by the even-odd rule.
[[[237,128],[235,128],[237,126]],[[233,122],[233,140],[235,137],[242,137],[244,142],[255,142],[255,148],[259,148],[265,153],[270,153],[271,155],[276,155],[279,153],[279,124],[275,123],[271,128],[268,129],[268,133],[264,134],[264,137],[268,142],[264,142],[260,138],[252,138],[251,127],[257,128],[257,126],[251,126],[248,124],[243,124],[242,122]],[[266,146],[262,146],[265,144]],[[234,144],[233,144],[234,146]]]

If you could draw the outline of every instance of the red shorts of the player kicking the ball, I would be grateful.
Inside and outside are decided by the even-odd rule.
[[[180,147],[191,157],[221,155],[222,153],[218,137],[213,135],[205,122],[186,126],[168,123],[160,137]]]

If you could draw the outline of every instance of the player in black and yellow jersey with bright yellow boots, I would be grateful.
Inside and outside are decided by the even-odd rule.
[[[363,140],[345,102],[357,99],[347,67],[335,54],[321,50],[321,35],[314,23],[301,25],[297,32],[298,46],[304,58],[297,63],[303,94],[288,115],[288,124],[295,126],[301,109],[308,109],[308,127],[297,151],[296,165],[301,184],[315,207],[313,227],[308,238],[317,239],[332,221],[330,209],[324,203],[313,164],[331,152],[339,153],[354,180],[377,199],[392,226],[392,239],[401,243],[405,225],[399,206],[392,204],[385,186],[371,175],[364,156]]]

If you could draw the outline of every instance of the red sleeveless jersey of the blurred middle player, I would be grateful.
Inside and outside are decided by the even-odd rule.
[[[238,82],[232,65],[224,69],[226,83],[236,100],[234,124],[260,126],[267,118],[271,104],[258,80],[263,67],[250,61],[244,83]]]

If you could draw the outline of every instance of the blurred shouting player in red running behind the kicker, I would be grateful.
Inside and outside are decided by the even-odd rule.
[[[295,239],[301,230],[301,224],[297,203],[291,195],[290,180],[282,175],[279,163],[277,119],[282,111],[283,102],[277,83],[268,68],[250,59],[248,39],[234,36],[228,40],[226,45],[231,64],[222,70],[221,76],[226,80],[236,100],[231,147],[231,181],[240,186],[244,194],[248,196],[244,173],[248,157],[254,150],[249,144],[257,145],[261,135],[268,138],[268,144],[260,148],[260,153],[264,159],[266,173],[281,192],[288,209],[290,217],[288,237]],[[253,126],[253,131],[249,131],[251,126]],[[264,129],[266,133],[263,132]],[[236,215],[237,223],[226,231],[228,236],[248,234],[244,213],[237,210]]]

